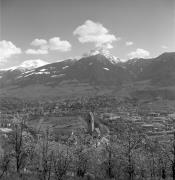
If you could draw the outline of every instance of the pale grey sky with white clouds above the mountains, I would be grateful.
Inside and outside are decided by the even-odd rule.
[[[175,52],[175,0],[0,0],[0,69],[101,48],[122,60]]]

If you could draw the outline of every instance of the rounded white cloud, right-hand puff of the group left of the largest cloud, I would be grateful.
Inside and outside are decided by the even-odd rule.
[[[52,51],[66,52],[71,50],[71,44],[68,41],[61,40],[59,37],[54,37],[49,39],[48,48]]]

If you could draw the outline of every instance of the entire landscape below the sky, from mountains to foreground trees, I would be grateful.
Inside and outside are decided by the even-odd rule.
[[[133,173],[136,180],[157,180],[164,177],[162,171],[172,179],[174,53],[125,63],[108,58],[93,54],[1,71],[0,150],[7,153],[3,158],[26,154],[12,158],[26,163],[15,177],[44,177],[48,166],[40,163],[47,161],[46,174],[54,179],[55,158],[60,168],[65,168],[62,160],[69,164],[63,179],[106,180],[120,174],[125,180]],[[38,158],[36,164],[32,157]],[[4,171],[14,174],[13,166],[7,163]]]

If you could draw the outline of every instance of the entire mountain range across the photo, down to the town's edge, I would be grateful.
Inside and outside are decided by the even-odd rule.
[[[130,59],[126,62],[108,52],[93,51],[80,59],[67,59],[36,68],[0,70],[1,95],[21,94],[34,89],[60,95],[67,92],[81,94],[101,91],[145,91],[171,89],[175,86],[175,52],[156,58]],[[25,89],[25,91],[24,91]],[[30,90],[29,90],[30,89]],[[55,89],[55,91],[53,90]],[[5,92],[8,93],[5,93]],[[85,92],[86,91],[86,92]],[[17,93],[18,92],[18,93]],[[171,92],[171,93],[172,93]],[[44,95],[47,95],[45,92]],[[133,92],[132,92],[133,93]]]

